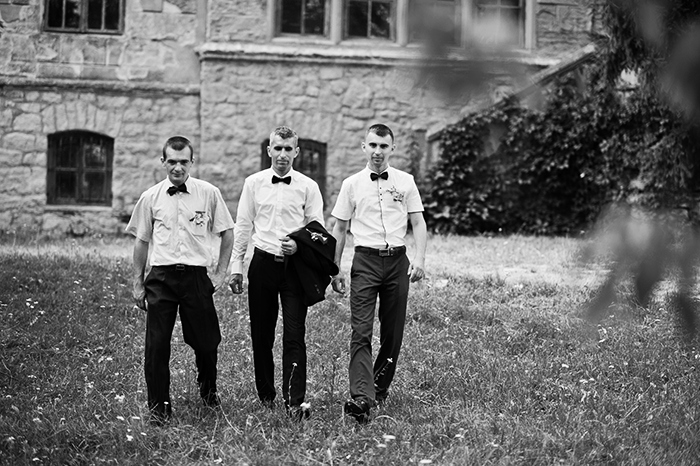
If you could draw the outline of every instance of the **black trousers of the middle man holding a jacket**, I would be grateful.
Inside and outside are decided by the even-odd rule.
[[[275,363],[272,347],[282,303],[282,397],[298,406],[306,396],[306,311],[299,277],[286,262],[255,250],[248,268],[248,307],[253,342],[255,388],[263,401],[274,400]]]

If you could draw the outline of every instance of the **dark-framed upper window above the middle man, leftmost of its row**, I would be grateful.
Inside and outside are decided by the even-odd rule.
[[[279,8],[280,32],[325,36],[329,14],[326,0],[282,0]]]

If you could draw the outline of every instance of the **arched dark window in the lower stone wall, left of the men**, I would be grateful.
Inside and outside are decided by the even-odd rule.
[[[48,136],[46,196],[50,205],[112,205],[114,139],[90,131]]]

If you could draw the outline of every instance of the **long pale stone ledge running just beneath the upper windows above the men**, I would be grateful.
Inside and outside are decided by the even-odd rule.
[[[475,60],[492,63],[521,63],[545,67],[557,63],[555,58],[539,57],[527,52],[491,54],[484,58],[470,56],[466,51],[452,51],[444,58],[429,58],[419,47],[399,47],[370,45],[368,42],[327,45],[320,42],[302,43],[298,41],[274,41],[257,44],[252,42],[207,42],[196,48],[201,61],[253,61],[253,62],[292,62],[329,65],[355,66],[425,66],[426,61],[454,65]]]

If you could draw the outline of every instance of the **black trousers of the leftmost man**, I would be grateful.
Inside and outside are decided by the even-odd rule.
[[[171,409],[170,339],[178,309],[185,343],[194,349],[200,395],[216,393],[221,331],[214,308],[214,285],[205,267],[177,268],[155,266],[144,282],[148,301],[144,365],[148,407],[159,413]]]

